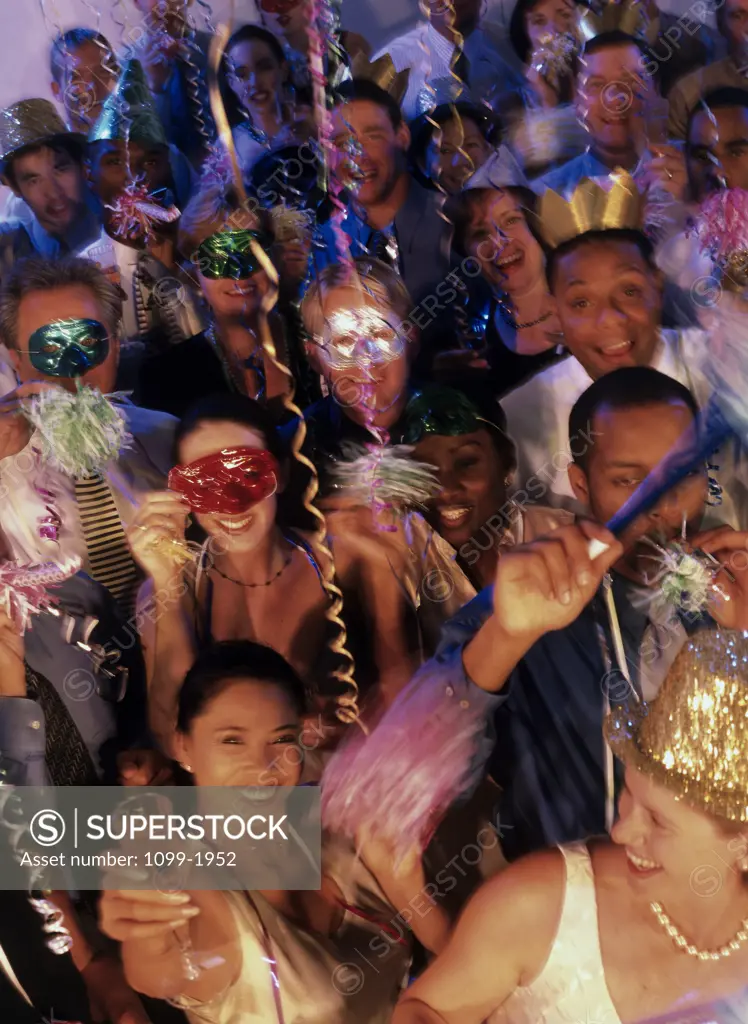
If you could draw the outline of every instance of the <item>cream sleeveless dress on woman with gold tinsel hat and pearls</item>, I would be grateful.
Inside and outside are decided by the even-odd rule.
[[[558,930],[545,967],[512,992],[488,1024],[621,1024],[606,983],[589,851],[560,847],[567,867]]]

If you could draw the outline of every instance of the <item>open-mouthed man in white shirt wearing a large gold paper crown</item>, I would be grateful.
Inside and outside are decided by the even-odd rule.
[[[516,439],[521,497],[579,511],[566,470],[573,453],[569,414],[589,384],[620,367],[653,367],[689,386],[704,403],[709,387],[703,331],[661,327],[663,275],[640,230],[641,197],[628,174],[606,185],[586,180],[567,202],[546,191],[539,231],[548,249],[548,285],[572,358],[544,370],[502,404]],[[719,466],[718,519],[740,528],[748,490],[740,452],[728,447]]]

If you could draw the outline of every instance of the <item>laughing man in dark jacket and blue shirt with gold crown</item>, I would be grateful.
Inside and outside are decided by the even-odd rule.
[[[449,224],[439,193],[418,184],[408,171],[410,131],[399,106],[408,73],[397,75],[383,58],[366,67],[358,62],[355,74],[363,77],[343,83],[333,114],[333,173],[349,195],[343,231],[351,256],[386,262],[418,304],[449,272]],[[339,258],[332,223],[323,226],[321,242],[318,271]]]

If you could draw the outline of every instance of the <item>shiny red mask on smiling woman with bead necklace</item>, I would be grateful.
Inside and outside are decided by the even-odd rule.
[[[223,449],[189,466],[175,466],[168,485],[196,512],[241,515],[275,493],[278,463],[262,449]]]

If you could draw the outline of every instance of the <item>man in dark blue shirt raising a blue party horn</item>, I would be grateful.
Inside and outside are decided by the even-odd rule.
[[[502,790],[497,811],[510,860],[606,830],[621,783],[602,736],[608,702],[625,703],[632,689],[653,699],[687,636],[710,615],[725,629],[748,622],[742,556],[730,579],[719,575],[721,596],[713,595],[709,614],[676,614],[656,600],[656,552],[646,538],[667,543],[685,528],[695,547],[722,564],[748,541],[724,526],[703,531],[705,466],[618,540],[598,525],[660,464],[696,413],[687,387],[647,367],[607,374],[585,389],[572,409],[567,440],[587,430],[595,437],[588,450],[577,449],[569,466],[587,518],[506,551],[493,590],[484,590],[445,627],[427,667],[424,678],[437,702],[445,686],[460,707],[469,701],[470,714],[483,701],[500,702],[489,768]],[[593,561],[591,538],[608,546]],[[604,583],[609,570],[610,593]],[[616,671],[621,668],[630,681]]]

